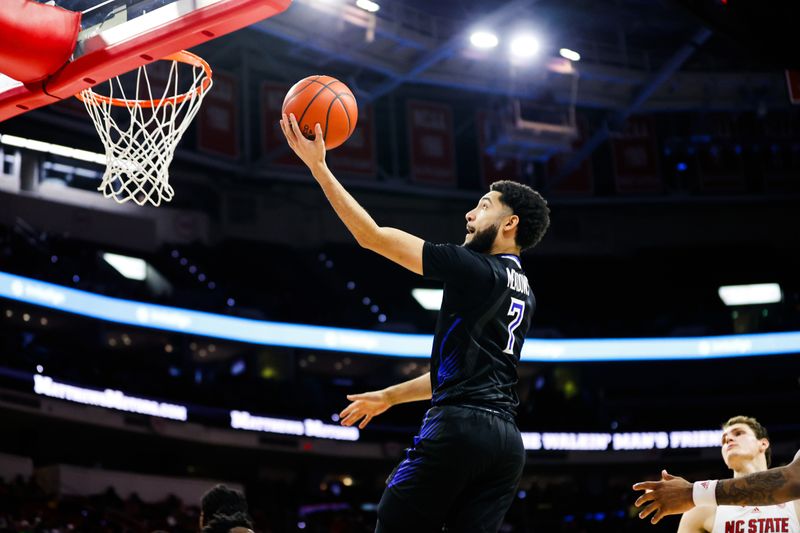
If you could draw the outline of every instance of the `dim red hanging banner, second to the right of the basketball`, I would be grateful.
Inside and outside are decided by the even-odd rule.
[[[455,187],[453,112],[448,105],[409,100],[411,177],[417,183]]]

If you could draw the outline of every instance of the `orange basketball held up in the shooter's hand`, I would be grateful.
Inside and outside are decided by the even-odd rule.
[[[314,125],[319,122],[328,150],[345,142],[358,122],[352,91],[330,76],[309,76],[295,83],[283,99],[282,111],[294,113],[300,131],[309,139],[314,138]]]

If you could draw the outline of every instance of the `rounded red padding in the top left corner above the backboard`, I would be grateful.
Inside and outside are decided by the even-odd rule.
[[[69,60],[81,14],[33,0],[3,0],[0,72],[22,83],[41,81]]]

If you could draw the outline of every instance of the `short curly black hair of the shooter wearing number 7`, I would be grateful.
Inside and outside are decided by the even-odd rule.
[[[536,246],[550,227],[550,208],[541,194],[522,183],[500,180],[489,188],[500,193],[500,201],[519,217],[517,245],[522,250]]]

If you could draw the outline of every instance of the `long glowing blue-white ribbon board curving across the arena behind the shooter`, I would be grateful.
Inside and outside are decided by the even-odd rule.
[[[27,302],[79,316],[137,328],[175,331],[204,338],[310,350],[428,358],[430,334],[255,321],[222,314],[113,298],[0,272],[0,298]],[[16,316],[13,312],[8,315]],[[165,351],[169,351],[165,347]],[[705,337],[624,339],[535,339],[522,349],[522,361],[655,361],[752,357],[800,352],[800,331]],[[310,360],[312,355],[308,356]],[[303,366],[305,360],[300,361]]]

